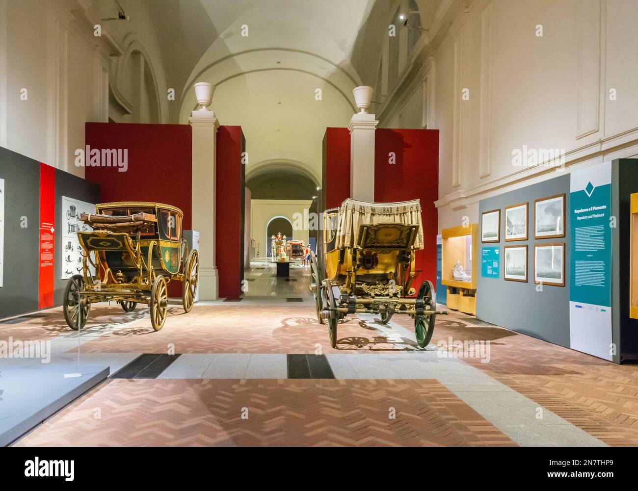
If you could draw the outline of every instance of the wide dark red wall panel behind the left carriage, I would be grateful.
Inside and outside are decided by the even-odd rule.
[[[100,185],[100,202],[147,201],[173,205],[184,212],[182,230],[192,226],[192,131],[188,124],[86,123],[90,149],[128,150],[128,168],[91,167],[84,177]],[[181,284],[168,294],[181,297]]]

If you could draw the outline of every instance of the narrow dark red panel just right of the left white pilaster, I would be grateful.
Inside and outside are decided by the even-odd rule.
[[[244,279],[245,149],[241,126],[219,126],[216,167],[216,263],[219,297],[239,298]]]

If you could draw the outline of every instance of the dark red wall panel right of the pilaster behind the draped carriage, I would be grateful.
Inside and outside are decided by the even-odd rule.
[[[375,202],[421,200],[424,249],[417,252],[412,282],[419,289],[429,279],[436,285],[436,233],[438,212],[438,129],[389,129],[375,131]],[[394,152],[396,163],[389,163]]]

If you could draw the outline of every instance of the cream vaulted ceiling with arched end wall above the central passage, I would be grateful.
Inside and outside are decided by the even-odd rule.
[[[392,3],[146,1],[179,98],[172,119],[187,122],[193,84],[211,82],[219,122],[246,136],[248,175],[294,168],[318,182],[325,128],[346,126],[352,89],[375,83]]]

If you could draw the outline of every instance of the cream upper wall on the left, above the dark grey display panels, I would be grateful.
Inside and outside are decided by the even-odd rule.
[[[84,177],[73,152],[84,147],[85,122],[107,122],[109,115],[115,121],[165,119],[166,75],[153,24],[143,3],[121,4],[131,22],[100,20],[117,13],[107,1],[0,0],[0,145]],[[100,37],[95,24],[102,27]],[[133,94],[119,87],[137,77],[116,77],[118,63],[136,53],[155,79],[150,85],[161,96],[155,96],[158,110],[149,108],[148,89]],[[142,73],[144,64],[138,64]],[[133,117],[109,104],[109,74]]]

